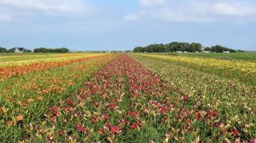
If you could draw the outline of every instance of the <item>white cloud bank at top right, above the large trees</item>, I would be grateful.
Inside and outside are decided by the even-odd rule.
[[[127,14],[125,20],[143,18],[172,22],[256,20],[256,3],[248,0],[139,0],[139,8],[137,12]]]

